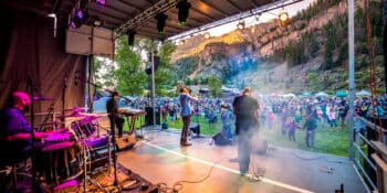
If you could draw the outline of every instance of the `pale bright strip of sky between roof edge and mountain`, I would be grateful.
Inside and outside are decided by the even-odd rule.
[[[316,1],[316,0],[302,0],[301,2],[284,7],[284,10],[287,11],[290,17],[293,17],[299,11],[306,9],[314,1]],[[289,2],[291,2],[291,1],[289,1]],[[281,11],[282,11],[282,9],[280,8],[280,9],[264,12],[259,17],[259,20],[257,20],[255,15],[247,18],[247,19],[244,19],[245,26],[254,25],[254,24],[258,24],[260,22],[266,22],[269,20],[278,18],[278,15],[281,13]],[[206,31],[202,31],[199,33],[205,33],[208,31],[211,34],[211,36],[220,36],[220,35],[223,35],[226,33],[229,33],[229,32],[236,30],[238,22],[239,21],[234,21],[234,22],[227,23],[227,24],[223,24],[223,25],[220,25],[220,26],[217,26],[213,29],[209,29],[209,30],[206,30]],[[196,35],[196,34],[197,33],[195,33],[194,35]],[[181,39],[177,39],[176,42],[178,42],[179,40],[181,40]]]

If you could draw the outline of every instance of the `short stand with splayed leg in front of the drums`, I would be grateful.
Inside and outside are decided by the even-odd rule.
[[[84,179],[83,179],[83,192],[86,192],[86,184],[87,181],[90,183],[92,183],[93,185],[95,185],[96,187],[98,187],[102,192],[105,193],[109,193],[105,187],[103,187],[97,181],[95,181],[94,179],[92,179],[91,176],[87,175],[87,163],[90,161],[90,168],[92,170],[92,154],[91,154],[91,148],[87,140],[86,140],[86,136],[82,135],[82,141],[83,141],[83,164],[84,164]],[[90,160],[87,159],[87,157],[90,158]]]

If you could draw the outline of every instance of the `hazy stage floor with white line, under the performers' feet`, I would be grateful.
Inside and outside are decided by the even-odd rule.
[[[239,175],[237,146],[218,147],[210,138],[191,139],[192,146],[180,147],[180,133],[144,130],[145,140],[118,153],[118,162],[154,184],[168,187],[179,181],[179,192],[196,193],[293,193],[345,192],[367,190],[347,158],[280,148],[269,144],[263,156],[253,154],[250,173],[259,171],[259,181]],[[213,167],[215,165],[215,167]],[[211,170],[212,169],[212,170]],[[208,175],[208,179],[206,176]]]

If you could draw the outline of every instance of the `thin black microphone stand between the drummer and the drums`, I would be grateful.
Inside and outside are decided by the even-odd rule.
[[[33,192],[39,192],[39,184],[36,182],[36,173],[35,173],[35,135],[33,132],[33,125],[34,125],[34,111],[33,111],[33,92],[35,88],[35,86],[33,85],[33,81],[31,79],[31,77],[28,77],[27,81],[27,89],[30,93],[30,103],[31,103],[31,148],[32,148],[32,156],[31,156],[31,162],[32,162],[32,190]]]

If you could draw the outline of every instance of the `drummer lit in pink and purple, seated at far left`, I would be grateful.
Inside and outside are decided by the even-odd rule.
[[[31,152],[31,125],[24,111],[31,108],[30,96],[14,92],[8,107],[0,111],[0,151],[8,158],[28,158]],[[35,139],[44,138],[50,132],[34,131]]]

